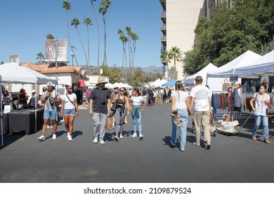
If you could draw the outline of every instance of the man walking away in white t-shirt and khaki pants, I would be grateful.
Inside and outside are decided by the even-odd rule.
[[[202,85],[202,77],[195,77],[195,87],[190,91],[190,108],[193,108],[193,119],[196,129],[196,141],[193,144],[200,146],[201,125],[204,128],[205,149],[211,148],[209,120],[211,116],[211,103],[209,89]]]

